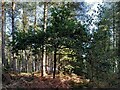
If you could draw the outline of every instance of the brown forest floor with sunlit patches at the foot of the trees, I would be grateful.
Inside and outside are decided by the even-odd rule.
[[[73,88],[73,87],[83,87],[90,82],[89,79],[85,79],[82,76],[77,76],[76,74],[71,75],[56,75],[53,79],[52,75],[47,75],[41,77],[40,73],[7,73],[3,74],[3,90],[8,90],[9,88],[26,88],[31,90],[32,88]]]

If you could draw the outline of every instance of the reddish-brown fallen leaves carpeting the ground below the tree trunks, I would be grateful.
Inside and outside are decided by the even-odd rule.
[[[14,75],[12,75],[14,76]],[[82,84],[89,83],[89,80],[81,79],[79,76],[73,75],[56,75],[53,79],[52,75],[40,77],[40,74],[19,74],[9,85],[4,85],[4,88],[71,88],[71,82]]]

